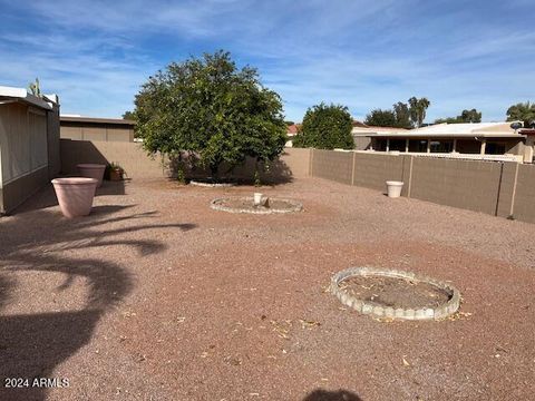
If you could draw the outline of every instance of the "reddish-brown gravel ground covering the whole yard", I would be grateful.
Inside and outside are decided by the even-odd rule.
[[[533,399],[535,225],[317,178],[261,189],[302,213],[208,208],[253,192],[105,183],[68,221],[47,188],[0,218],[0,400]],[[360,265],[450,281],[461,313],[347,310],[327,288]]]

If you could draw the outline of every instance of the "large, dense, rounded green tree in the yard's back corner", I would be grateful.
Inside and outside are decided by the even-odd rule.
[[[276,158],[286,140],[282,102],[256,69],[237,69],[217,51],[172,62],[143,85],[135,99],[136,130],[152,154],[187,151],[217,177],[223,162]]]

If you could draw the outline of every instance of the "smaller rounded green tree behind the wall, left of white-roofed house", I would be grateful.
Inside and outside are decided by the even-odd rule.
[[[307,110],[303,124],[295,136],[295,147],[318,149],[352,149],[354,147],[351,129],[353,119],[346,106],[320,105]]]

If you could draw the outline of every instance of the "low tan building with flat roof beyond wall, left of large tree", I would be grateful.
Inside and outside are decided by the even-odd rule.
[[[134,141],[135,121],[121,118],[61,116],[61,139]]]

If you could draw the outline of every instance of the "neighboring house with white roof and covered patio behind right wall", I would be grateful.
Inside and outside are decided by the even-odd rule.
[[[532,163],[533,136],[510,123],[437,124],[410,130],[357,133],[369,140],[366,150],[424,156]]]

